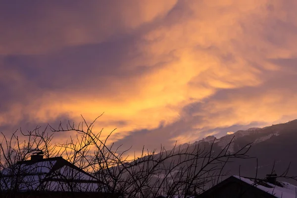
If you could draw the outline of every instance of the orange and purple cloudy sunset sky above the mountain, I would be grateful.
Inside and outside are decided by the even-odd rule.
[[[0,132],[104,112],[139,151],[287,122],[296,44],[293,0],[0,0]]]

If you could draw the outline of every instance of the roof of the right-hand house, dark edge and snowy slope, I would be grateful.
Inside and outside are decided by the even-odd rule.
[[[267,198],[296,198],[297,196],[297,187],[290,183],[277,182],[277,184],[274,185],[268,183],[265,180],[250,179],[234,175],[203,192],[198,197],[207,197],[207,195],[212,194],[214,191],[216,191],[216,189],[225,187],[232,182],[237,182],[241,185],[249,186],[251,190],[254,190],[258,194],[265,195],[265,197]]]

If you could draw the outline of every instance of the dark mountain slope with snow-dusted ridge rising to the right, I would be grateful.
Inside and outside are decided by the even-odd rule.
[[[225,148],[231,141],[232,144],[228,148],[228,151],[231,153],[236,152],[241,148],[245,148],[247,144],[252,143],[247,155],[253,158],[233,158],[232,161],[228,162],[226,166],[224,166],[223,169],[224,172],[229,171],[229,175],[220,179],[225,179],[230,175],[241,175],[243,177],[250,178],[265,178],[266,174],[270,174],[272,172],[272,169],[278,176],[280,176],[288,169],[289,165],[290,169],[288,171],[288,175],[297,176],[297,120],[264,128],[240,130],[234,134],[226,135],[219,139],[216,139],[214,136],[208,136],[195,142],[194,144],[183,144],[177,146],[174,150],[165,150],[163,153],[161,152],[155,155],[138,158],[127,165],[129,166],[129,164],[137,163],[138,165],[136,167],[133,166],[131,170],[133,170],[134,175],[139,175],[140,178],[142,178],[143,172],[149,170],[152,175],[152,177],[149,177],[149,183],[160,183],[162,180],[166,180],[166,174],[167,178],[169,178],[167,182],[170,183],[174,180],[173,178],[175,178],[175,176],[182,174],[181,169],[183,169],[184,166],[190,167],[191,170],[192,167],[197,165],[198,169],[194,169],[194,171],[191,170],[189,174],[184,176],[192,177],[193,175],[196,175],[197,172],[200,172],[199,167],[204,163],[203,156],[208,156],[208,154],[203,155],[202,153],[202,156],[200,155],[201,157],[193,160],[193,158],[189,159],[191,154],[187,155],[187,153],[191,153],[198,149],[205,149],[207,152],[211,151],[212,154],[216,155],[220,153],[220,151],[222,151],[222,149]],[[157,168],[156,171],[154,171],[152,167],[156,166],[156,161],[158,161],[157,159],[162,158],[162,156],[167,153],[181,154],[173,155],[170,158],[162,160],[160,168]],[[154,159],[156,159],[156,161],[146,161],[146,159],[150,156],[155,157]],[[141,163],[141,161],[143,161],[143,163]],[[183,163],[180,164],[177,163],[177,161],[183,161]],[[210,170],[216,165],[217,164],[212,164],[207,169]],[[168,171],[166,172],[166,170],[169,169],[170,174],[168,176]],[[185,168],[183,170],[185,170]],[[123,177],[126,175],[127,174],[123,175]],[[278,180],[297,185],[297,181],[295,180],[288,180],[286,178],[278,178]],[[211,186],[211,184],[207,185],[203,188],[207,189]]]

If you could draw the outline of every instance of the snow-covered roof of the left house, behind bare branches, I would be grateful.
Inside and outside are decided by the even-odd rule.
[[[102,191],[102,182],[62,157],[19,161],[0,174],[0,191]]]

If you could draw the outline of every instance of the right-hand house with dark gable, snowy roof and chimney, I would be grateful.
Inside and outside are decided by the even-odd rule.
[[[296,198],[297,187],[287,182],[276,181],[276,174],[267,179],[251,179],[231,176],[208,189],[198,198]]]

